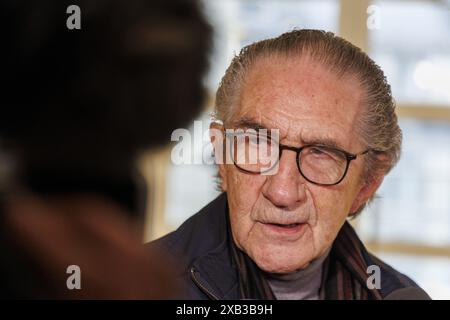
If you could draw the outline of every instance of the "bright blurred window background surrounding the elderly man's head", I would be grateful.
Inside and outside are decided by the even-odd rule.
[[[214,93],[243,46],[293,28],[333,31],[382,67],[397,101],[403,154],[378,197],[352,223],[367,246],[433,299],[450,299],[450,0],[203,0],[215,28]],[[199,123],[197,123],[199,124]],[[194,125],[189,128],[194,131]],[[193,135],[194,138],[194,135]],[[207,148],[195,136],[194,153]],[[173,145],[172,145],[173,146]],[[214,199],[213,165],[174,165],[171,147],[141,159],[149,190],[145,240],[177,228]],[[151,163],[151,164],[150,164]]]

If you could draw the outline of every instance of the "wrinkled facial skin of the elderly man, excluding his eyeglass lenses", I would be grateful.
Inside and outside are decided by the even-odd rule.
[[[332,140],[345,151],[359,153],[366,148],[356,130],[363,94],[355,78],[339,78],[308,57],[260,59],[247,75],[240,105],[225,126],[250,119],[279,129],[284,145]],[[327,251],[349,213],[381,184],[382,174],[370,182],[362,178],[363,165],[364,156],[359,156],[335,186],[306,181],[292,151],[282,153],[274,175],[219,165],[235,243],[264,271],[289,273],[306,267]],[[273,226],[292,223],[299,224],[295,230]]]

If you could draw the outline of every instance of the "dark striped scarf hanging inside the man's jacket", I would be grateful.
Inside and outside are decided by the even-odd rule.
[[[241,299],[276,299],[263,272],[236,247],[228,223],[231,256],[238,270]],[[377,289],[367,287],[367,256],[364,245],[348,222],[338,233],[328,258],[324,262],[324,274],[320,298],[326,300],[380,300]]]

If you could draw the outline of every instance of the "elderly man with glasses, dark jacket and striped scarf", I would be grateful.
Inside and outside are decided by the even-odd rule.
[[[380,68],[332,33],[296,30],[245,47],[211,125],[226,132],[227,148],[213,136],[216,157],[226,150],[232,160],[219,164],[224,193],[155,243],[184,257],[181,298],[427,298],[346,222],[399,158],[394,111]],[[268,146],[276,161],[248,157]]]

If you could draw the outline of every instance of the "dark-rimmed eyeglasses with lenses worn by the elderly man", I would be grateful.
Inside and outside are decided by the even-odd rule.
[[[307,181],[332,186],[340,183],[347,174],[350,162],[359,155],[334,147],[313,144],[300,148],[279,144],[267,135],[249,132],[226,133],[230,142],[230,154],[234,165],[247,173],[271,174],[284,150],[296,153],[297,168]]]

